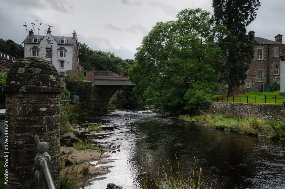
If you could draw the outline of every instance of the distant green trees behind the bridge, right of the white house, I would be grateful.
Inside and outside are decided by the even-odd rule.
[[[131,65],[135,63],[132,59],[123,60],[111,52],[93,50],[85,43],[78,43],[78,45],[80,64],[84,65],[85,70],[109,70],[115,73],[128,72]]]

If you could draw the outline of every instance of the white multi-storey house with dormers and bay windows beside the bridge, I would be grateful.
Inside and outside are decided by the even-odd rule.
[[[25,57],[39,57],[51,61],[60,75],[67,70],[84,71],[79,63],[79,47],[76,32],[72,37],[53,36],[50,28],[45,36],[34,35],[33,30],[23,41]]]

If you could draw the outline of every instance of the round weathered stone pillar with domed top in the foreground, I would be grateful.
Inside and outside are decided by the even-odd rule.
[[[36,64],[27,67],[27,62]],[[5,188],[35,188],[34,136],[48,143],[49,165],[59,188],[60,172],[60,87],[55,67],[44,59],[21,58],[10,69],[2,91],[6,95],[6,122],[9,124],[9,185]]]

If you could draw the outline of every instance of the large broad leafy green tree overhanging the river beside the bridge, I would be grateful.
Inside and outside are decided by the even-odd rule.
[[[176,17],[156,23],[143,38],[129,80],[143,103],[180,113],[211,100],[219,87],[222,50],[209,12],[184,9]]]

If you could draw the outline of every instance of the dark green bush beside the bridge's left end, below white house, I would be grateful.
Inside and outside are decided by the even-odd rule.
[[[66,89],[70,92],[84,92],[86,84],[84,83],[84,74],[78,73],[78,75],[67,75],[66,77]]]

